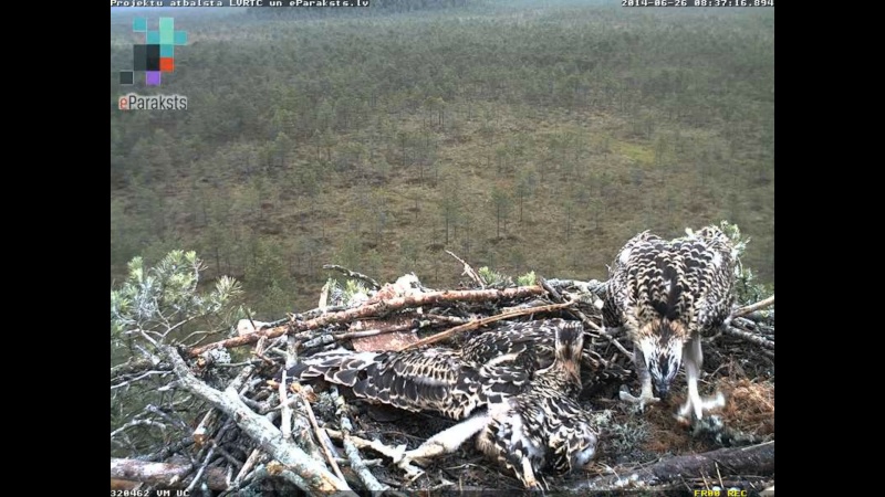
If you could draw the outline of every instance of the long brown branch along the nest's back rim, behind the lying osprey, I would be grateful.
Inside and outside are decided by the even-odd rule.
[[[260,331],[241,335],[239,337],[229,338],[227,340],[208,343],[196,349],[191,349],[188,355],[197,357],[204,352],[214,349],[240,347],[258,341],[261,337],[277,338],[292,331],[309,331],[322,328],[327,325],[337,325],[342,322],[350,322],[355,319],[365,319],[369,317],[383,316],[387,313],[400,310],[407,307],[421,307],[433,305],[452,305],[457,303],[467,302],[496,302],[504,299],[524,298],[535,295],[541,295],[544,289],[540,286],[519,286],[516,288],[506,289],[481,289],[481,290],[444,290],[444,292],[428,292],[424,294],[410,295],[407,297],[396,297],[387,300],[382,300],[375,304],[363,305],[353,309],[342,310],[340,313],[329,313],[306,321],[296,320],[295,316],[290,322],[278,326],[274,328],[266,328]]]

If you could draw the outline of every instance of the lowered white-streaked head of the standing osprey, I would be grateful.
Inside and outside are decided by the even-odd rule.
[[[652,374],[652,384],[662,399],[667,398],[673,379],[679,372],[685,337],[683,325],[668,319],[655,319],[643,327],[639,334],[639,350]]]

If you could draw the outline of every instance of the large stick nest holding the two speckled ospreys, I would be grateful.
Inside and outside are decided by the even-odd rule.
[[[581,402],[597,413],[600,455],[589,470],[545,477],[550,490],[738,488],[758,495],[773,486],[774,324],[767,304],[737,310],[730,326],[705,339],[701,394],[720,391],[728,402],[685,426],[674,416],[686,398],[685,380],[674,382],[668,403],[643,413],[617,400],[622,385],[633,391],[638,385],[627,356],[631,343],[600,327],[604,282],[489,285],[465,267],[469,287],[413,288],[406,295],[348,272],[368,282],[365,296],[351,292],[335,302],[336,290],[327,286],[322,308],[275,322],[241,322],[239,334],[225,340],[191,349],[159,347],[150,360],[112,368],[112,392],[146,381],[142,388],[168,392],[112,431],[112,488],[189,488],[205,495],[347,487],[391,494],[523,490],[470,443],[431,461],[417,476],[391,464],[388,450],[415,448],[451,426],[450,420],[368,405],[343,388],[296,383],[285,390],[268,380],[279,378],[287,361],[291,366],[298,357],[336,347],[458,347],[502,319],[553,317],[583,321],[591,337],[585,346],[612,371],[626,374],[585,388]],[[113,457],[115,446],[121,457]]]

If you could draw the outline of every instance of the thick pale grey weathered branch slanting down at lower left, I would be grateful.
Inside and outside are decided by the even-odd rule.
[[[228,388],[222,393],[212,389],[194,377],[175,348],[162,346],[160,350],[173,364],[175,373],[187,390],[236,420],[239,427],[263,451],[303,478],[303,490],[326,493],[350,489],[345,482],[330,473],[325,466],[312,459],[294,443],[283,440],[280,431],[268,419],[250,410],[240,400],[236,390]]]

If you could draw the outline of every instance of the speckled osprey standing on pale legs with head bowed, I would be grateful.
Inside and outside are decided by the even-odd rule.
[[[704,361],[701,334],[716,329],[731,310],[736,255],[728,236],[717,228],[665,241],[648,232],[624,245],[610,267],[603,307],[606,327],[624,327],[633,342],[642,393],[621,392],[641,408],[669,392],[681,362],[686,366],[688,400],[679,410],[700,419],[705,410],[725,403],[701,400],[698,378]]]

